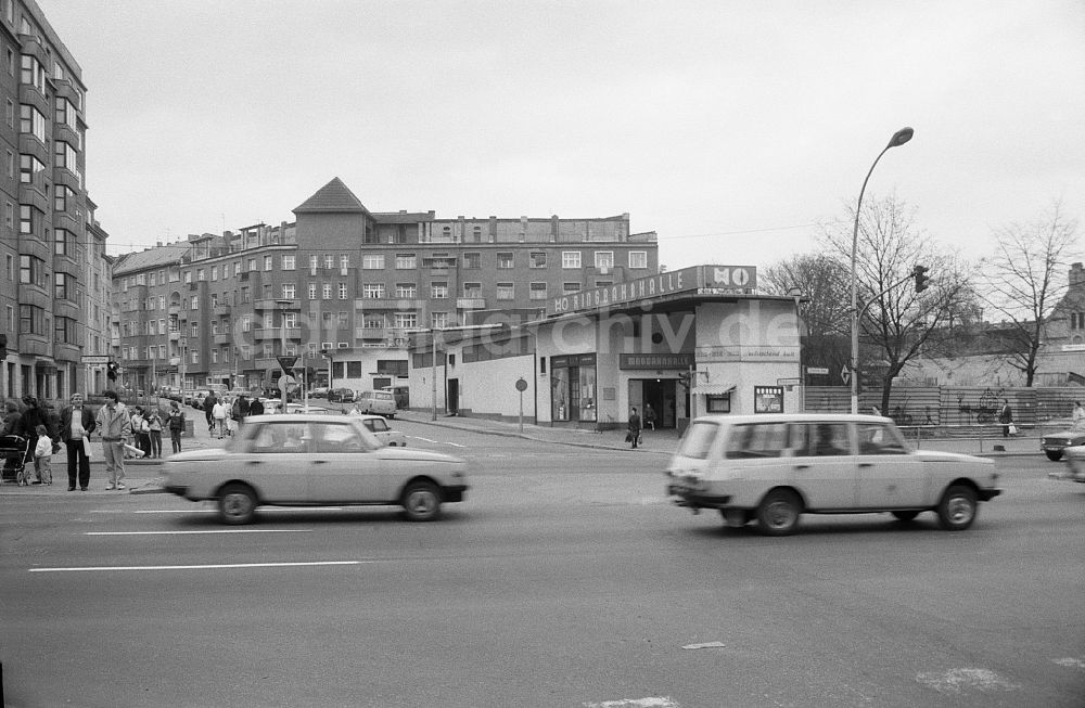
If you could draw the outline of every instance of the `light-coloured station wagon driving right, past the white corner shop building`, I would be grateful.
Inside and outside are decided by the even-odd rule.
[[[1001,493],[992,460],[911,450],[893,421],[875,415],[698,417],[667,475],[679,506],[719,510],[728,526],[756,520],[770,536],[794,532],[804,513],[910,522],[933,511],[943,528],[963,530],[978,502]]]

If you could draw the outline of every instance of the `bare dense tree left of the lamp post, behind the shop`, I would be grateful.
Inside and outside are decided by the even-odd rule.
[[[774,295],[797,291],[806,298],[800,308],[803,364],[828,369],[830,376],[848,359],[847,269],[830,255],[801,254],[769,266],[762,286]]]

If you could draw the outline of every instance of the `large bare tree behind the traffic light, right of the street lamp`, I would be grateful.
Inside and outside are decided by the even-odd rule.
[[[893,378],[908,361],[928,353],[940,342],[935,335],[970,309],[967,265],[926,235],[916,226],[915,213],[890,196],[868,199],[859,218],[856,282],[860,344],[867,345],[860,348],[859,369],[879,372],[881,410],[886,414]],[[854,219],[853,208],[846,222],[824,229],[828,249],[848,265]],[[916,266],[926,266],[931,279],[921,293],[910,278]]]

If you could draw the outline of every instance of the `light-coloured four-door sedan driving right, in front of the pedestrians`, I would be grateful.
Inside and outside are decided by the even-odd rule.
[[[459,458],[381,445],[348,415],[255,415],[225,448],[166,460],[165,489],[215,501],[226,524],[253,520],[261,504],[398,505],[408,519],[439,517],[463,501],[467,463]]]

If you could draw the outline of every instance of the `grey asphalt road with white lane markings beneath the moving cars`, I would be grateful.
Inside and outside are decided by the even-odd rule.
[[[1038,455],[966,532],[769,539],[668,505],[662,455],[401,427],[477,463],[442,522],[3,498],[5,705],[1082,705],[1085,488]]]

